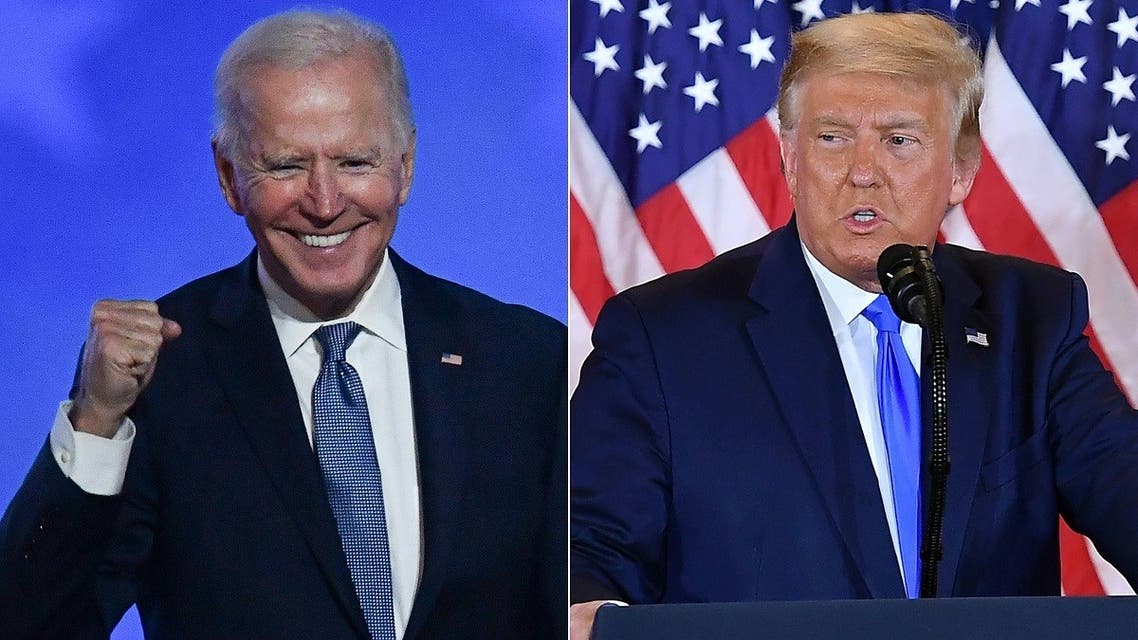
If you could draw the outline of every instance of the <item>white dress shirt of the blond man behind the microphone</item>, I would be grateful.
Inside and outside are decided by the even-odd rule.
[[[901,566],[901,550],[897,543],[897,512],[893,509],[893,485],[889,477],[889,454],[885,451],[885,436],[881,430],[881,415],[877,409],[877,381],[874,377],[877,358],[877,329],[873,322],[861,315],[879,294],[866,292],[857,285],[843,279],[826,269],[818,259],[802,245],[802,254],[810,268],[810,274],[822,295],[822,304],[826,307],[826,318],[838,343],[838,355],[842,359],[846,380],[853,396],[853,408],[858,421],[861,422],[861,434],[869,450],[869,461],[877,475],[877,486],[884,502],[885,520],[889,523],[889,534],[893,539],[893,553],[897,556],[897,568],[905,582],[905,569]],[[901,322],[901,342],[905,352],[913,362],[917,376],[921,375],[921,337],[920,325]]]

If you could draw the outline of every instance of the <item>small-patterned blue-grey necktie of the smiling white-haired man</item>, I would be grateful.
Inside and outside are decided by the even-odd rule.
[[[344,360],[358,334],[355,322],[316,329],[324,355],[312,391],[313,441],[368,631],[395,640],[384,486],[363,384]]]

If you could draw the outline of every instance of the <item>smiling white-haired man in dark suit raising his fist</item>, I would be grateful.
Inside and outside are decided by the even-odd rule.
[[[388,246],[415,130],[388,34],[249,27],[214,153],[256,251],[100,301],[0,523],[0,635],[564,633],[564,327]]]

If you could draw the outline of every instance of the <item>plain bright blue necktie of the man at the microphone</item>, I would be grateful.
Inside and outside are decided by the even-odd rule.
[[[921,378],[905,352],[901,321],[885,296],[861,312],[877,328],[877,410],[889,452],[897,542],[909,598],[921,592]]]

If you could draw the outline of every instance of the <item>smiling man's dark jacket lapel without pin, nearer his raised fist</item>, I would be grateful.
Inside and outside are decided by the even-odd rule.
[[[255,265],[256,259],[249,256],[241,265],[241,277],[218,289],[211,311],[216,331],[207,337],[206,355],[261,467],[308,543],[345,615],[356,632],[366,637],[320,466],[308,444],[292,378],[256,281]]]

